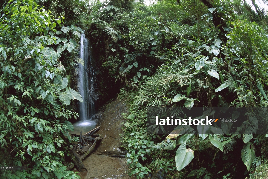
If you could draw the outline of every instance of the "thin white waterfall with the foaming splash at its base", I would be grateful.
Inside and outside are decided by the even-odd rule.
[[[94,70],[91,65],[91,51],[89,42],[85,38],[85,34],[81,35],[80,58],[84,60],[84,65],[79,63],[78,69],[78,91],[84,102],[79,102],[79,121],[74,123],[75,130],[88,132],[96,125],[96,121],[92,121],[94,115]]]

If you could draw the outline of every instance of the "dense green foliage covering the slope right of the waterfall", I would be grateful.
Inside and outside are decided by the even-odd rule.
[[[130,175],[246,178],[266,158],[267,135],[254,135],[251,126],[258,124],[250,116],[238,133],[252,134],[243,136],[228,135],[228,123],[222,135],[210,128],[198,129],[206,135],[189,128],[173,137],[146,130],[148,107],[267,107],[267,16],[247,7],[241,1],[162,0],[128,10],[107,4],[92,17],[88,33],[99,68],[125,85],[120,96],[130,101],[122,138]]]

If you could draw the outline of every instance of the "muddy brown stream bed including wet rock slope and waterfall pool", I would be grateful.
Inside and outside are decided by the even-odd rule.
[[[101,134],[103,137],[91,154],[82,160],[87,172],[78,172],[75,167],[73,168],[73,171],[78,172],[81,179],[135,178],[128,175],[128,165],[125,159],[127,151],[122,149],[120,142],[120,134],[123,133],[121,127],[125,123],[121,114],[127,111],[124,101],[117,99],[94,115],[91,121],[86,121],[84,124],[81,122],[73,124],[75,130],[71,133],[77,135],[80,135],[80,131],[85,134],[96,124],[97,126],[101,125],[96,134]]]

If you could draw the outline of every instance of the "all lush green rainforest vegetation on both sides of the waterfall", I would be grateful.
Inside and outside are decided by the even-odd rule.
[[[146,125],[150,107],[268,106],[268,16],[248,3],[1,0],[0,166],[27,170],[0,170],[0,178],[79,178],[66,165],[78,141],[70,120],[83,101],[73,80],[84,63],[82,33],[92,45],[97,108],[128,101],[121,141],[130,176],[268,178],[268,135],[256,135],[250,116],[235,135],[229,123],[220,135],[173,137]]]

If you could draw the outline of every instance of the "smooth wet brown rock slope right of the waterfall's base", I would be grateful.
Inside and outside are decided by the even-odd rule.
[[[121,147],[120,134],[123,133],[121,127],[125,123],[122,112],[126,113],[127,111],[128,108],[126,107],[125,101],[117,99],[108,104],[104,111],[94,116],[94,118],[99,120],[97,126],[101,125],[97,134],[103,136],[98,148],[94,151],[95,154],[125,158],[127,151]]]

